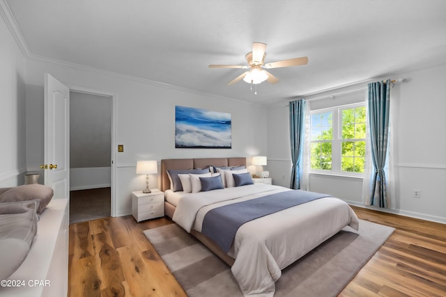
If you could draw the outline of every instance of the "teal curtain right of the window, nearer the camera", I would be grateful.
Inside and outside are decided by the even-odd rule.
[[[370,151],[373,164],[369,202],[370,205],[387,208],[385,164],[389,137],[390,80],[369,83],[368,93]]]

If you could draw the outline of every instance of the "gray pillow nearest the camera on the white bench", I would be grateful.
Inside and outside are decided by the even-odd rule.
[[[6,280],[28,255],[37,233],[38,200],[0,203],[0,280]]]

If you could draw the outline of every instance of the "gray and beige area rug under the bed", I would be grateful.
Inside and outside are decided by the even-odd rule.
[[[393,231],[366,220],[360,220],[359,232],[345,227],[285,268],[275,296],[337,296]],[[178,225],[144,234],[188,296],[243,296],[231,268]]]

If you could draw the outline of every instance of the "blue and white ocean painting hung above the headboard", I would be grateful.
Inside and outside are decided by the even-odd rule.
[[[176,148],[231,148],[231,113],[175,106]]]

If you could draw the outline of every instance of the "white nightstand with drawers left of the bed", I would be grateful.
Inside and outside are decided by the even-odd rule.
[[[152,190],[132,192],[132,215],[137,222],[164,216],[164,192]]]

